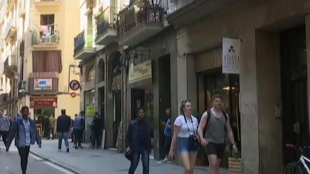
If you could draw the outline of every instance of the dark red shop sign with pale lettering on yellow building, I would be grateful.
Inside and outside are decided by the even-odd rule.
[[[57,97],[30,97],[30,108],[57,108]]]

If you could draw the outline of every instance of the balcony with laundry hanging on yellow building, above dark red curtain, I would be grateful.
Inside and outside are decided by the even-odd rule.
[[[33,47],[57,47],[59,43],[59,31],[52,27],[40,26],[32,30],[31,43]]]

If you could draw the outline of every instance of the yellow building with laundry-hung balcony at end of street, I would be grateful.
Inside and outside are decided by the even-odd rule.
[[[2,6],[6,44],[1,57],[9,62],[4,74],[13,82],[7,113],[16,115],[27,105],[39,123],[51,114],[57,118],[61,109],[74,118],[79,113],[80,89],[78,83],[71,83],[72,89],[69,84],[79,81],[80,74],[72,57],[73,38],[79,33],[79,2],[6,0]]]

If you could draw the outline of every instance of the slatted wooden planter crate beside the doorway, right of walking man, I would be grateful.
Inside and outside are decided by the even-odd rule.
[[[241,152],[228,152],[228,169],[230,174],[241,174]]]

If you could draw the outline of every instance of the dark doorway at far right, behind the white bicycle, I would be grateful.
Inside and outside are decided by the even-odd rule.
[[[280,33],[284,165],[294,158],[286,143],[309,146],[307,52],[305,26]]]

